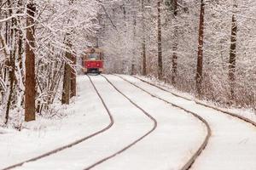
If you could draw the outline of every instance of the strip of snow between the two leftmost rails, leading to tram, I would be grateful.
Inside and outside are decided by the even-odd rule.
[[[17,169],[83,169],[90,167],[95,162],[123,149],[154,127],[154,122],[148,116],[131,105],[108,82],[102,83],[102,78],[99,79],[99,77],[91,78],[113,115],[113,127],[93,139],[62,150],[55,155],[26,163]]]

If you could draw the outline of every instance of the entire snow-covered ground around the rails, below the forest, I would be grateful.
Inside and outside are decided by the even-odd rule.
[[[183,167],[205,139],[205,125],[189,113],[153,98],[119,77],[106,77],[129,99],[153,116],[157,127],[125,152],[92,169],[176,170]],[[173,96],[137,78],[122,77],[151,94],[194,111],[209,122],[212,137],[191,169],[256,169],[255,127],[219,111],[197,105],[194,101]],[[154,127],[154,122],[119,94],[105,78],[97,76],[91,79],[108,105],[113,116],[113,126],[71,148],[28,162],[16,169],[84,169],[122,150]],[[107,111],[86,76],[79,77],[79,97],[72,105],[67,106],[67,113],[70,116],[62,120],[39,119],[28,124],[29,129],[21,132],[8,130],[0,134],[0,169],[81,139],[110,123]]]

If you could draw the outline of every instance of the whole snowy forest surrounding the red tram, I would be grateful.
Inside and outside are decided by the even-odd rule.
[[[87,47],[105,74],[255,111],[255,16],[253,0],[0,0],[0,125],[72,103]]]

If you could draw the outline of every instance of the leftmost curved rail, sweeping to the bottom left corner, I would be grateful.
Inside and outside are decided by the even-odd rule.
[[[90,77],[89,77],[89,78],[90,78]],[[90,82],[91,82],[91,80],[90,80]],[[28,162],[31,162],[31,161],[38,161],[39,159],[44,158],[44,157],[46,157],[46,156],[51,156],[51,155],[53,155],[53,154],[55,154],[55,153],[57,153],[57,152],[60,152],[61,150],[65,150],[65,149],[67,149],[67,148],[73,147],[74,145],[79,144],[79,143],[81,143],[81,142],[84,142],[84,141],[87,140],[87,139],[91,139],[92,137],[94,137],[94,136],[96,136],[96,135],[98,135],[98,134],[100,134],[100,133],[104,133],[104,132],[107,131],[110,127],[112,127],[112,126],[113,126],[113,122],[114,122],[114,121],[113,121],[113,116],[111,115],[110,111],[108,110],[108,106],[107,106],[107,105],[105,104],[105,102],[103,101],[101,94],[98,93],[96,87],[94,86],[94,84],[93,84],[92,82],[91,82],[91,84],[92,84],[93,88],[96,90],[96,94],[97,94],[98,97],[101,99],[102,105],[105,107],[106,111],[108,112],[108,116],[109,116],[110,122],[109,122],[109,124],[108,124],[107,127],[104,127],[104,128],[102,128],[102,130],[97,131],[96,133],[92,133],[92,134],[90,134],[89,136],[86,136],[86,137],[84,137],[84,138],[82,138],[82,139],[78,139],[78,140],[74,141],[74,142],[71,143],[71,144],[67,144],[67,145],[61,146],[60,148],[57,148],[57,149],[55,149],[55,150],[50,150],[49,152],[46,152],[46,153],[44,153],[43,155],[33,157],[33,158],[31,158],[31,159],[29,159],[29,160],[26,160],[26,161],[21,161],[20,163],[17,163],[17,164],[15,164],[15,165],[12,165],[12,166],[9,166],[9,167],[4,167],[2,170],[9,170],[9,169],[12,169],[12,168],[15,168],[15,167],[20,167],[20,166],[22,166],[24,163],[28,163]]]

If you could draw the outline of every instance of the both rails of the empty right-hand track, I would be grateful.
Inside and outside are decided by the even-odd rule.
[[[151,94],[151,93],[149,93],[147,90],[145,90],[145,89],[143,89],[143,88],[137,86],[137,84],[128,81],[128,80],[125,79],[124,77],[121,77],[121,76],[119,76],[119,75],[114,75],[114,76],[123,79],[125,82],[129,82],[131,85],[133,85],[133,86],[135,86],[135,87],[137,87],[137,88],[143,90],[143,92],[145,92],[145,93],[147,93],[147,94],[150,94],[151,96],[153,96],[153,97],[155,97],[155,98],[157,98],[157,99],[161,99],[160,97],[158,97],[158,96],[156,96],[156,95],[154,95],[154,94]],[[185,97],[183,97],[183,96],[180,96],[180,95],[178,95],[178,94],[173,94],[172,92],[166,90],[165,88],[161,88],[161,87],[159,87],[159,86],[157,86],[157,85],[155,85],[155,84],[153,84],[153,83],[151,83],[151,82],[144,81],[143,79],[138,78],[138,77],[135,77],[135,78],[137,78],[138,80],[140,80],[140,81],[142,81],[142,82],[146,82],[146,83],[148,83],[149,85],[154,86],[155,88],[159,88],[160,90],[163,90],[163,91],[165,91],[165,92],[167,92],[167,93],[169,93],[169,94],[175,95],[176,97],[179,97],[179,98],[182,98],[182,99],[186,99],[186,100],[192,101],[191,99],[187,99],[187,98],[185,98]],[[176,106],[176,107],[178,107],[178,108],[180,108],[180,109],[183,109],[181,106],[175,105],[175,104],[173,104],[173,103],[167,101],[166,99],[161,99],[161,100],[166,101],[166,103],[169,103],[169,104],[171,104],[171,105],[173,105],[173,106]],[[203,103],[201,103],[200,101],[195,101],[195,103],[196,103],[197,105],[202,105],[202,106],[205,106],[205,107],[207,107],[207,108],[210,108],[210,109],[213,109],[213,110],[216,110],[216,111],[220,111],[220,112],[222,112],[222,113],[224,113],[224,114],[226,114],[226,115],[233,116],[233,117],[235,117],[235,118],[240,119],[240,120],[243,121],[243,122],[250,123],[251,125],[253,125],[253,127],[256,127],[256,122],[253,122],[252,120],[247,119],[246,117],[238,116],[238,115],[236,115],[236,114],[234,114],[234,113],[230,113],[230,112],[228,112],[228,111],[223,111],[223,110],[218,109],[218,108],[215,108],[215,107],[213,107],[213,106],[203,104]],[[183,109],[183,110],[186,111],[185,109]],[[193,114],[193,115],[194,115],[194,114]],[[196,114],[195,114],[195,115],[196,115]],[[200,117],[201,117],[201,116],[200,116]],[[201,119],[204,120],[202,117],[201,117]],[[206,122],[206,121],[204,121],[204,122]],[[206,123],[207,123],[207,122],[206,122]],[[196,161],[196,159],[198,158],[198,156],[201,155],[202,150],[204,150],[204,148],[206,148],[207,143],[208,143],[208,140],[209,140],[209,138],[210,138],[210,136],[211,136],[211,133],[212,133],[212,132],[211,132],[211,128],[209,127],[208,123],[207,123],[207,128],[208,128],[208,135],[207,135],[207,138],[205,139],[204,143],[201,144],[201,147],[199,148],[199,150],[197,150],[197,152],[195,152],[195,154],[189,159],[189,161],[187,161],[187,163],[184,164],[184,166],[181,168],[181,170],[189,170],[189,168],[193,165],[193,163]]]

